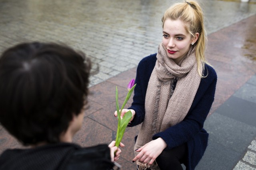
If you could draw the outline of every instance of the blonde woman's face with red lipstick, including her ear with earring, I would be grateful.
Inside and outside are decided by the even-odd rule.
[[[190,48],[192,42],[198,39],[198,33],[194,39],[185,29],[185,24],[181,20],[166,19],[163,28],[163,45],[169,58],[176,64],[180,62]]]

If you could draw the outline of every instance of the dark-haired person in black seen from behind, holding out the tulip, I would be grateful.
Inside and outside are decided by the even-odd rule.
[[[90,68],[83,53],[56,43],[22,43],[2,53],[0,123],[31,147],[5,150],[0,170],[114,167],[121,152],[115,141],[88,148],[72,143],[84,117]]]

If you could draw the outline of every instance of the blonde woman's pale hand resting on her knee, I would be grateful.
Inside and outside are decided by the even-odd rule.
[[[148,165],[152,165],[154,160],[162,153],[162,151],[167,147],[165,141],[162,138],[158,138],[156,140],[150,141],[143,147],[135,150],[136,152],[140,152],[137,156],[135,156],[132,162],[138,160],[144,164],[148,163]]]

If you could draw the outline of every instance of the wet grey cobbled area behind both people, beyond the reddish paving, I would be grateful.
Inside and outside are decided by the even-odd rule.
[[[91,56],[93,86],[137,66],[162,40],[164,11],[182,0],[0,0],[0,52],[24,41],[66,43]],[[200,0],[208,35],[256,14],[250,3]]]

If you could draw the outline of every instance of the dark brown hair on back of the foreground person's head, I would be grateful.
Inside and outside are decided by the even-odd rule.
[[[24,145],[59,142],[88,95],[90,60],[65,45],[22,43],[0,57],[0,122]]]

